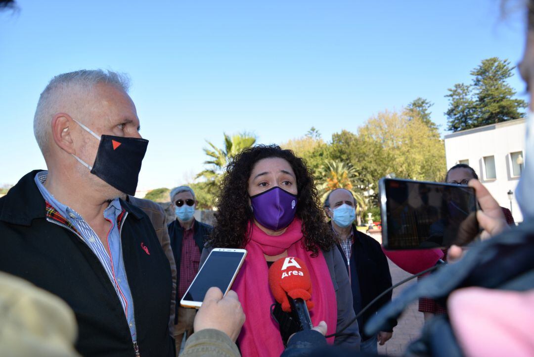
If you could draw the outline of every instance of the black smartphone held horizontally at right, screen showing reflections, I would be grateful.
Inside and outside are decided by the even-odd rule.
[[[379,190],[385,249],[447,248],[478,235],[473,188],[384,177]]]

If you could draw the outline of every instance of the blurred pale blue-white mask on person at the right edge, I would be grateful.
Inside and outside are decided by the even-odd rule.
[[[532,201],[532,188],[534,188],[534,112],[529,111],[527,116],[527,138],[525,139],[524,165],[521,179],[515,189],[517,204],[521,208],[523,221],[534,219],[534,201]]]

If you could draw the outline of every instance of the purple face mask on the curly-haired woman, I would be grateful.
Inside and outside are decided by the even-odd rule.
[[[296,195],[278,186],[250,197],[250,203],[256,221],[270,230],[286,228],[295,218]]]

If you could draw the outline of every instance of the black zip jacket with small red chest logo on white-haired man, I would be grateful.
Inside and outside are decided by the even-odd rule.
[[[115,289],[89,246],[46,210],[30,172],[0,198],[0,270],[22,277],[65,300],[79,327],[84,356],[133,357],[130,329]],[[140,355],[173,356],[168,332],[171,275],[150,220],[120,201],[125,271],[134,305]],[[147,248],[150,254],[142,247]]]

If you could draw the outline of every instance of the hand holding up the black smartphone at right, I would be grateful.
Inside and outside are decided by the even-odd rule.
[[[483,229],[481,238],[488,239],[499,234],[503,230],[508,229],[508,223],[506,222],[506,218],[502,213],[502,208],[499,206],[493,196],[491,196],[491,193],[484,187],[484,185],[476,179],[470,180],[468,185],[469,187],[475,189],[476,199],[481,208],[476,212],[478,226]],[[466,220],[465,222],[470,221]],[[475,238],[476,234],[478,233],[475,230],[476,225],[462,223],[460,225],[458,235],[462,236],[462,240],[470,241]],[[449,252],[447,253],[447,260],[452,262],[460,259],[462,252],[463,251],[461,247],[457,245],[451,246]]]

